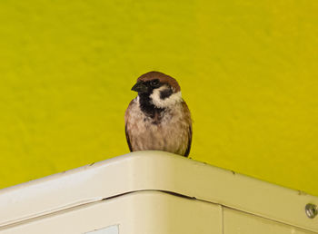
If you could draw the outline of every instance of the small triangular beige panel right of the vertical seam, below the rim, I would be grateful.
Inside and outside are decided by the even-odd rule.
[[[271,219],[224,208],[224,234],[313,234]]]

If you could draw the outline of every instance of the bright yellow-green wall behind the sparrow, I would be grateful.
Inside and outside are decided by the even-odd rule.
[[[127,153],[130,88],[158,70],[193,112],[193,159],[318,195],[317,12],[315,0],[0,1],[0,187]]]

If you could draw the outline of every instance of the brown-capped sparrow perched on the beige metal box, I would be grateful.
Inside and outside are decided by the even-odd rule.
[[[168,151],[187,157],[192,119],[176,80],[164,73],[144,73],[132,91],[138,95],[124,114],[130,151]]]

